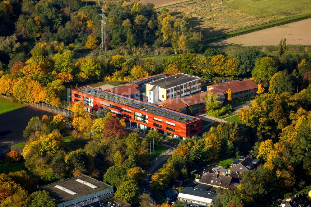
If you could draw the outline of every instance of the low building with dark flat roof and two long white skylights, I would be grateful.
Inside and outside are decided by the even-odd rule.
[[[80,207],[114,197],[114,188],[86,175],[79,175],[31,190],[48,191],[58,207]]]

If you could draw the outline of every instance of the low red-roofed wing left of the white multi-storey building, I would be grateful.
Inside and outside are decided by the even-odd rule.
[[[146,92],[146,83],[156,81],[162,78],[169,77],[173,74],[162,73],[153,76],[143,77],[134,81],[131,81],[124,85],[118,85],[116,87],[107,89],[110,92],[127,96],[132,99],[143,100]]]

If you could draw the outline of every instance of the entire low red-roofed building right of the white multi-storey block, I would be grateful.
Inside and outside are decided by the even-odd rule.
[[[216,89],[227,94],[229,88],[231,89],[232,100],[237,100],[240,98],[247,99],[250,96],[257,95],[258,85],[254,81],[247,79],[243,81],[232,81],[229,83],[210,85],[207,86],[207,91]]]

